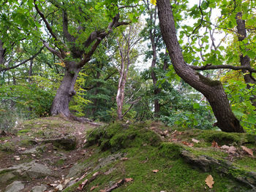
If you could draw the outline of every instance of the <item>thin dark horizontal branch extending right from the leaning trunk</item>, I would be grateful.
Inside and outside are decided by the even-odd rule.
[[[195,69],[197,71],[205,71],[205,70],[211,70],[211,69],[233,69],[233,70],[242,70],[246,69],[249,72],[256,73],[256,69],[252,69],[250,66],[232,66],[232,65],[211,65],[207,64],[206,66],[191,66],[192,69]]]

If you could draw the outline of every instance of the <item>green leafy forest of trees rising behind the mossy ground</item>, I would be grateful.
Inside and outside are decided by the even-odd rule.
[[[171,1],[179,59],[169,1],[0,2],[1,129],[61,114],[255,133],[255,0]]]

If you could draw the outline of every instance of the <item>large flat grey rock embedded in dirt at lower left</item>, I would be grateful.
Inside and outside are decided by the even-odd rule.
[[[46,176],[54,176],[54,174],[47,166],[37,164],[34,161],[25,164],[18,164],[7,169],[0,169],[0,183],[6,183],[16,176],[35,179]]]

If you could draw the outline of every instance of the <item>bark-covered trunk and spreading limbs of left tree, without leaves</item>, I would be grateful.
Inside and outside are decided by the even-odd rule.
[[[104,30],[96,30],[91,32],[89,37],[85,39],[81,45],[78,46],[76,42],[78,37],[75,37],[69,33],[69,18],[67,10],[61,8],[61,4],[59,4],[57,1],[50,1],[51,4],[60,9],[62,12],[62,32],[64,35],[64,41],[62,41],[59,35],[55,34],[52,28],[53,26],[51,26],[50,22],[48,22],[47,17],[45,17],[44,13],[39,9],[37,5],[38,3],[39,2],[37,0],[34,0],[34,7],[37,10],[39,16],[42,18],[42,21],[45,23],[45,26],[51,37],[53,37],[54,45],[57,49],[51,47],[48,42],[45,42],[45,40],[42,40],[42,42],[51,53],[59,57],[59,59],[64,62],[66,69],[61,85],[56,93],[55,98],[53,99],[50,113],[51,115],[61,114],[67,118],[70,117],[78,120],[79,118],[75,118],[69,112],[69,101],[72,99],[72,96],[75,95],[74,85],[80,69],[82,69],[83,66],[85,66],[91,60],[91,56],[94,54],[100,42],[102,42],[102,39],[107,37],[114,28],[127,25],[128,23],[119,22],[120,15],[116,14],[116,16],[113,17],[112,22],[108,24],[108,27],[106,27]],[[85,22],[83,19],[78,21],[78,23],[83,22]],[[83,26],[79,26],[77,28],[77,34],[80,34],[81,31],[85,31]],[[71,58],[67,55],[71,55]]]

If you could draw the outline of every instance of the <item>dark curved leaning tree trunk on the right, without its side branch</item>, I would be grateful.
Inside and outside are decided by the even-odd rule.
[[[176,37],[170,0],[157,0],[157,8],[162,37],[178,76],[206,96],[217,118],[216,126],[226,132],[244,132],[239,120],[230,108],[222,83],[204,77],[185,63]]]

